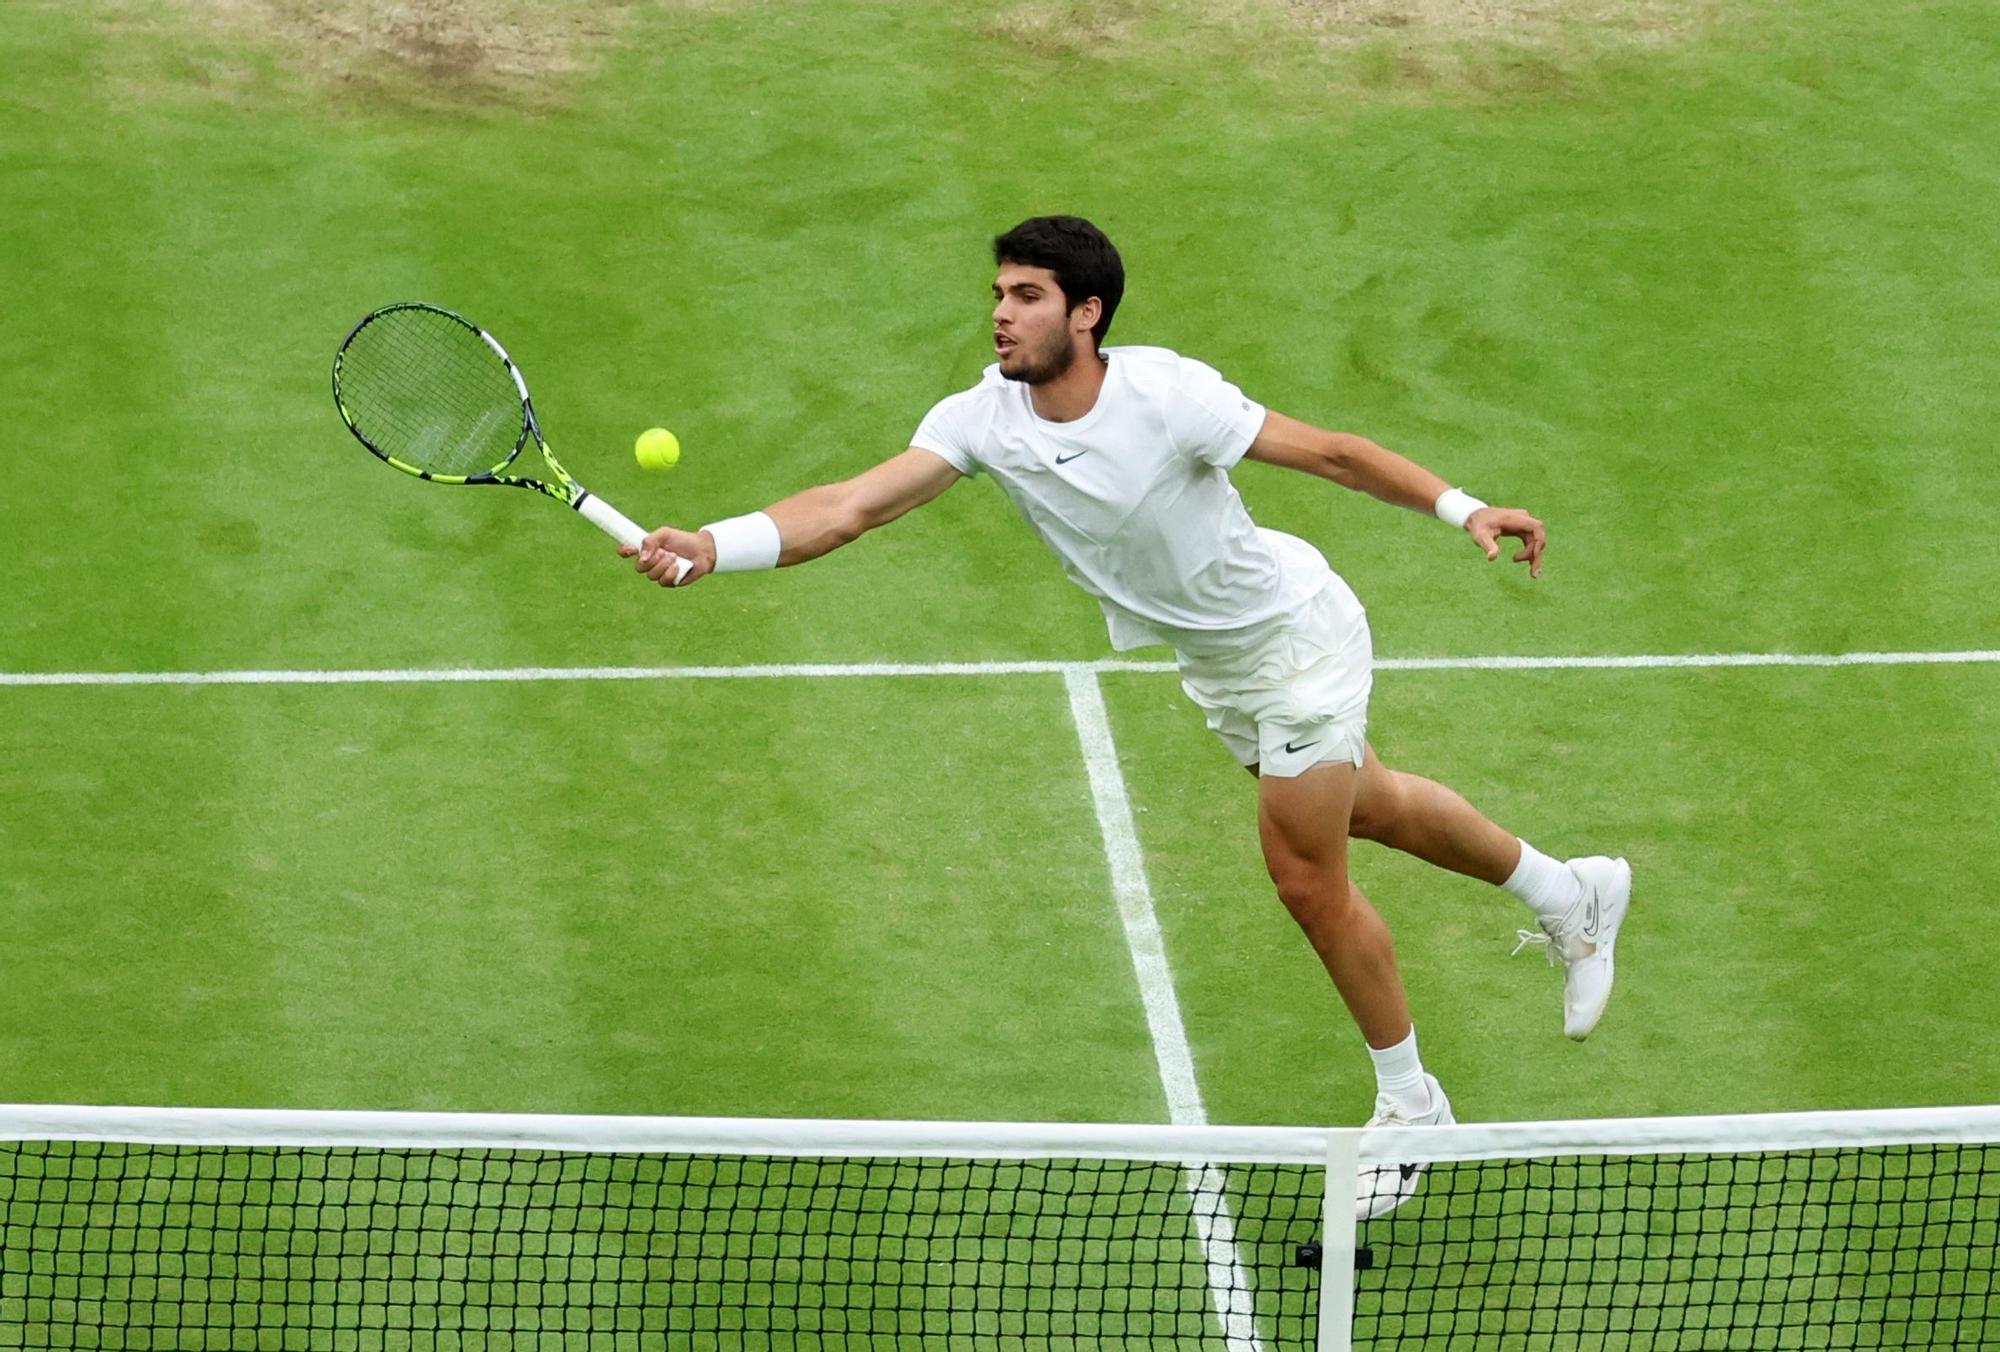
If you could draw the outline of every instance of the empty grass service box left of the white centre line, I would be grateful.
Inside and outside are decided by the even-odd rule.
[[[1060,684],[864,690],[38,700],[8,1098],[1158,1118]]]

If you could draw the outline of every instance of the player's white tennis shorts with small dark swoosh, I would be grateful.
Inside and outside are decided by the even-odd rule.
[[[1216,642],[1180,636],[1180,688],[1240,766],[1292,778],[1368,754],[1368,612],[1334,574],[1298,612]]]

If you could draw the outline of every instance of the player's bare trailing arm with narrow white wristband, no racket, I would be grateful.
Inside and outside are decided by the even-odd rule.
[[[1528,576],[1542,576],[1542,550],[1548,548],[1548,530],[1542,528],[1542,522],[1520,508],[1486,506],[1414,460],[1398,456],[1386,446],[1376,446],[1366,436],[1326,432],[1298,418],[1264,414],[1264,426],[1244,458],[1330,478],[1342,488],[1364,492],[1382,502],[1394,502],[1426,516],[1442,516],[1464,526],[1488,560],[1500,558],[1502,536],[1520,540],[1514,562],[1528,564]]]

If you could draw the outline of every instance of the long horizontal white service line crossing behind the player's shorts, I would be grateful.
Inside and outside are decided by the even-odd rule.
[[[1582,658],[1376,658],[1378,672],[1546,672],[1704,666],[1992,664],[2000,648],[1962,652],[1670,652]],[[1172,662],[790,662],[768,666],[434,666],[244,672],[0,672],[0,686],[394,686],[522,680],[744,680],[826,676],[1068,676],[1172,672]]]

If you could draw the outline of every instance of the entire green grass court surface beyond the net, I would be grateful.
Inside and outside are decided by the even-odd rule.
[[[326,388],[436,300],[622,510],[736,514],[976,378],[986,240],[1050,210],[1124,252],[1114,340],[1550,522],[1530,584],[1244,468],[1382,656],[1994,644],[1982,4],[1350,46],[1252,0],[674,2],[532,90],[192,8],[0,8],[4,670],[1098,656],[986,484],[668,596],[390,474]],[[1526,912],[1356,852],[1460,1114],[2000,1102],[1994,672],[1386,672],[1390,764],[1638,868],[1570,1046]],[[1210,1116],[1356,1120],[1248,782],[1170,676],[1104,690]],[[0,688],[0,1100],[1164,1118],[1052,676]]]

